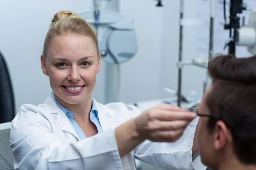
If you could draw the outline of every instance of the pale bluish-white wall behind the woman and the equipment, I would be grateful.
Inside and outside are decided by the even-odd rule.
[[[185,1],[185,17],[194,16],[195,1]],[[179,0],[163,1],[163,8],[155,7],[155,0],[120,2],[120,13],[134,20],[139,45],[136,57],[121,66],[120,101],[168,97],[163,87],[177,88]],[[51,92],[48,77],[41,71],[40,55],[53,15],[90,7],[92,0],[0,1],[0,50],[11,74],[16,111],[24,103],[44,102]],[[184,59],[190,59],[194,57],[194,30],[184,29],[183,54]],[[183,94],[202,91],[205,71],[190,67],[183,71]],[[99,102],[104,99],[104,70],[102,62],[93,93]]]

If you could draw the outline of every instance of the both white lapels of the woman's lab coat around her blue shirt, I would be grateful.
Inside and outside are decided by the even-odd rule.
[[[102,130],[108,130],[110,128],[107,123],[107,115],[109,108],[105,105],[100,104],[95,99],[93,100],[93,102],[95,102],[96,108],[98,109],[99,122],[102,126]],[[67,115],[64,113],[64,111],[61,110],[61,108],[58,107],[58,105],[52,98],[51,94],[45,100],[44,105],[42,105],[42,108],[44,109],[44,111],[47,111],[47,113],[57,114],[57,122],[60,125],[61,129],[72,133],[73,135],[76,136],[78,140],[80,140],[79,135],[76,133],[76,130],[74,129],[73,125],[70,123],[70,120],[68,119]]]

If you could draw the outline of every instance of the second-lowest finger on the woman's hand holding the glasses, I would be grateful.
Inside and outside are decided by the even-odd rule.
[[[148,124],[149,130],[178,130],[187,127],[190,121],[187,120],[175,120],[175,121],[159,121],[155,120]]]

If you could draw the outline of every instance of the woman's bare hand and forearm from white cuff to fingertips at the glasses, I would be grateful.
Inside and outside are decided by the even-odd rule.
[[[152,142],[174,142],[182,136],[195,113],[177,106],[162,104],[116,127],[115,137],[122,158],[145,139]]]

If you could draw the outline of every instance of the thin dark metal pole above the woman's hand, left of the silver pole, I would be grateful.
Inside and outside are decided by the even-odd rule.
[[[183,32],[183,26],[181,24],[181,21],[183,19],[183,4],[184,1],[180,0],[180,42],[179,42],[179,62],[182,61],[182,32]],[[179,67],[178,68],[178,93],[177,93],[177,105],[180,107],[180,103],[181,103],[181,79],[182,79],[182,68]]]

